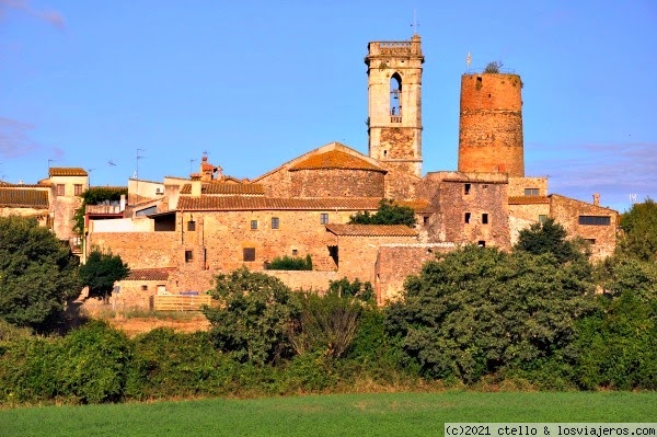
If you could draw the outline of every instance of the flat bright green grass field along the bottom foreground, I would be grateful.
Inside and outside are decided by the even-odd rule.
[[[393,393],[0,410],[0,436],[442,436],[445,422],[656,422],[657,393]]]

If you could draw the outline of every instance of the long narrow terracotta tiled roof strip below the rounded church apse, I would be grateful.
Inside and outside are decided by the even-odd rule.
[[[323,198],[279,198],[246,196],[181,196],[177,209],[181,210],[376,210],[376,197],[323,197]]]

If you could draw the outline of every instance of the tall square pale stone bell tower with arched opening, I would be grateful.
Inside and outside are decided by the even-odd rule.
[[[422,176],[422,54],[411,41],[371,42],[365,57],[369,96],[369,156]]]

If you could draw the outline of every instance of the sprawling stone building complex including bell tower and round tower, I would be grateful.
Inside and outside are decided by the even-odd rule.
[[[461,78],[458,170],[423,176],[419,36],[372,42],[365,62],[368,154],[332,142],[251,181],[224,175],[206,156],[188,179],[130,180],[123,217],[92,218],[87,230],[88,246],[112,250],[132,269],[124,300],[203,292],[215,274],[246,265],[292,288],[369,280],[384,303],[436,253],[469,243],[510,250],[521,229],[548,217],[587,239],[593,256],[612,253],[616,211],[526,176],[518,74]],[[348,225],[381,199],[413,207],[416,227]],[[310,255],[313,271],[266,271],[285,255]]]

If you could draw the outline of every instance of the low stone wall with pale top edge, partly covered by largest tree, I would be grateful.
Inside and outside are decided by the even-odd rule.
[[[377,302],[385,304],[397,299],[408,275],[418,274],[427,261],[436,258],[436,254],[454,249],[451,243],[381,245],[374,267]]]

